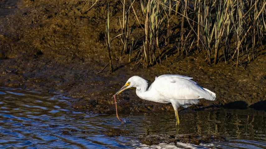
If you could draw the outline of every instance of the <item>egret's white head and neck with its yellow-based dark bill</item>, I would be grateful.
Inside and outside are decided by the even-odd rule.
[[[131,87],[135,87],[135,88],[144,87],[145,89],[147,89],[148,83],[145,79],[143,79],[139,76],[133,76],[126,81],[126,84],[121,89],[119,89],[119,91],[116,92],[115,95],[118,95],[121,92],[123,92],[124,90],[129,89]]]

